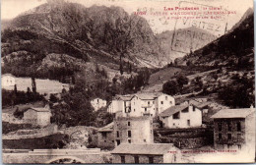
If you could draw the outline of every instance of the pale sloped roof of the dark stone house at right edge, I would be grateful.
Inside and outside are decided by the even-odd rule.
[[[255,113],[253,108],[241,108],[241,109],[223,109],[213,115],[211,118],[246,118],[248,115]]]

